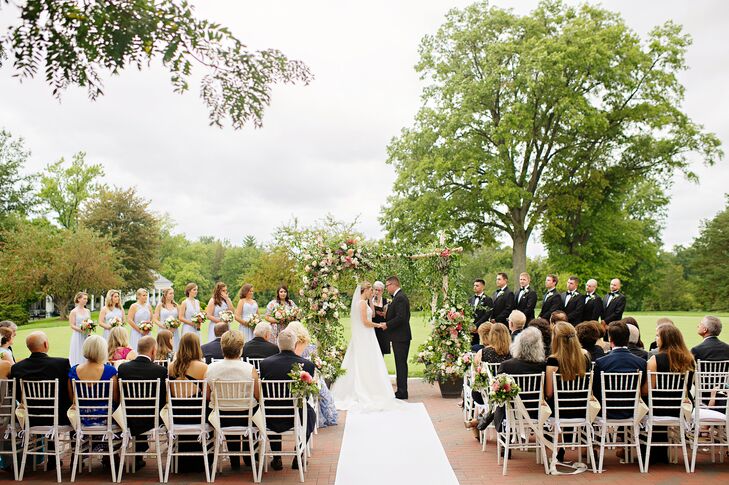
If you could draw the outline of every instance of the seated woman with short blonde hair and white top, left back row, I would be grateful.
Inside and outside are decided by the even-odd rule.
[[[215,326],[216,334],[219,325],[220,324]],[[211,363],[208,366],[207,373],[205,374],[205,378],[208,380],[208,385],[210,386],[211,396],[213,392],[213,382],[215,381],[253,381],[253,396],[255,397],[256,401],[258,401],[260,397],[258,389],[258,372],[256,372],[256,369],[253,367],[253,365],[240,359],[241,355],[243,355],[243,344],[245,344],[245,337],[243,336],[243,333],[239,330],[230,330],[228,332],[224,332],[223,336],[218,340],[220,340],[220,347],[223,352],[223,360]],[[245,406],[247,404],[248,403],[241,401],[241,406]],[[237,405],[238,403],[236,403],[236,406]],[[254,410],[257,407],[258,405],[256,404],[254,406]],[[234,411],[232,414],[239,413],[237,411]],[[220,426],[222,427],[248,426],[247,420],[246,422],[241,422],[240,420],[234,418],[225,418],[224,416],[225,414],[222,414],[220,416]],[[226,437],[226,441],[228,442],[228,450],[240,450],[240,441],[238,441],[238,437],[235,437],[234,440],[228,440]],[[247,439],[243,439],[243,446],[244,450],[248,450]],[[250,466],[249,457],[245,457],[244,461],[246,465]],[[240,468],[240,457],[231,456],[230,465],[231,467],[233,467],[233,469]]]

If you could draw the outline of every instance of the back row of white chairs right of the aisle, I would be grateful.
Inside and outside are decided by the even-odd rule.
[[[498,365],[489,364],[492,375],[496,375]],[[591,372],[572,381],[563,380],[560,374],[553,375],[555,409],[548,419],[544,419],[544,414],[540,415],[545,406],[544,373],[513,377],[521,389],[519,405],[507,404],[504,426],[497,435],[497,463],[501,463],[501,448],[504,448],[504,475],[512,449],[537,450],[537,463],[544,462],[545,473],[551,471],[547,447],[552,448],[552,463],[555,463],[560,447],[577,448],[580,461],[584,448],[592,471],[600,473],[608,448],[623,448],[629,461],[637,456],[639,469],[644,473],[648,471],[651,449],[656,446],[681,451],[686,472],[695,471],[699,448],[710,448],[712,463],[716,462],[716,451],[723,462],[724,451],[729,450],[729,399],[726,397],[729,361],[699,361],[693,380],[689,373],[648,372],[647,406],[641,399],[641,372],[603,372],[600,374],[602,395],[599,401],[602,413],[596,417],[590,415],[590,401],[593,400]],[[472,402],[472,382],[472,375],[464,378],[465,419],[471,419],[489,407],[487,392],[481,393],[486,403],[484,406]],[[687,396],[692,384],[695,405],[691,408]],[[644,416],[641,416],[641,409]],[[656,442],[654,433],[657,428],[665,428],[669,439]],[[570,432],[564,433],[565,430]],[[597,438],[594,438],[595,433]],[[544,440],[544,434],[551,435],[551,443]],[[707,439],[700,441],[702,434]],[[569,436],[571,441],[564,441],[564,436]],[[482,432],[481,439],[485,451],[485,432]],[[597,463],[593,441],[599,441],[600,445]],[[645,449],[645,457],[641,455],[641,445]],[[678,457],[671,455],[672,461],[677,462]]]

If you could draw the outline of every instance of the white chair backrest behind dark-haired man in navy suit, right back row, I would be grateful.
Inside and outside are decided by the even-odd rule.
[[[600,407],[606,419],[629,419],[635,416],[640,402],[642,376],[642,371],[600,374]]]

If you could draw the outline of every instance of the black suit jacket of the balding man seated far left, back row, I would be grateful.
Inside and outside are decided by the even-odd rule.
[[[42,352],[33,352],[27,359],[21,360],[10,368],[11,379],[16,382],[16,396],[20,400],[20,379],[26,381],[45,381],[58,379],[58,424],[68,425],[66,411],[71,407],[71,398],[68,395],[68,371],[71,365],[68,359],[62,357],[48,357]],[[51,418],[36,418],[31,426],[48,426],[53,424]]]

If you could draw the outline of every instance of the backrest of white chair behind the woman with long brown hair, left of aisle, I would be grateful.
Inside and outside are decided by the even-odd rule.
[[[170,432],[175,426],[199,425],[205,427],[207,380],[167,380]]]

